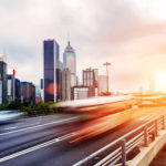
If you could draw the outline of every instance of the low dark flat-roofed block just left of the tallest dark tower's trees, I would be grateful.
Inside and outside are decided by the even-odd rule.
[[[35,104],[35,86],[29,82],[21,82],[20,95],[22,102]]]

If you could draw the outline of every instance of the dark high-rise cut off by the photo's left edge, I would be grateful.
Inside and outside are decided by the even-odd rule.
[[[0,59],[0,80],[2,81],[2,103],[7,103],[7,63]]]

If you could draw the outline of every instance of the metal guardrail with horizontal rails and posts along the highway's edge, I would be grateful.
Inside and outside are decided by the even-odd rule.
[[[126,166],[126,156],[129,152],[141,144],[148,147],[149,142],[155,141],[155,137],[158,135],[158,131],[166,129],[165,116],[166,114],[158,115],[157,117],[148,121],[147,123],[138,126],[137,128],[93,153],[89,157],[80,160],[74,166],[91,165],[92,163],[95,166],[113,166],[115,164]],[[108,149],[113,149],[113,152],[94,164],[94,158]]]

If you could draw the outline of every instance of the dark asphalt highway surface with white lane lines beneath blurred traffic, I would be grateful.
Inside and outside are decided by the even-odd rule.
[[[135,108],[132,118],[102,135],[72,142],[84,123],[80,115],[55,114],[22,118],[0,125],[0,166],[76,165],[117,137],[166,111],[166,107]],[[94,158],[94,164],[102,156]]]

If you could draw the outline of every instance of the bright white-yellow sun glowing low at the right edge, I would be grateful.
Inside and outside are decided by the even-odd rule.
[[[156,73],[155,86],[157,91],[166,92],[166,71],[159,71]]]

